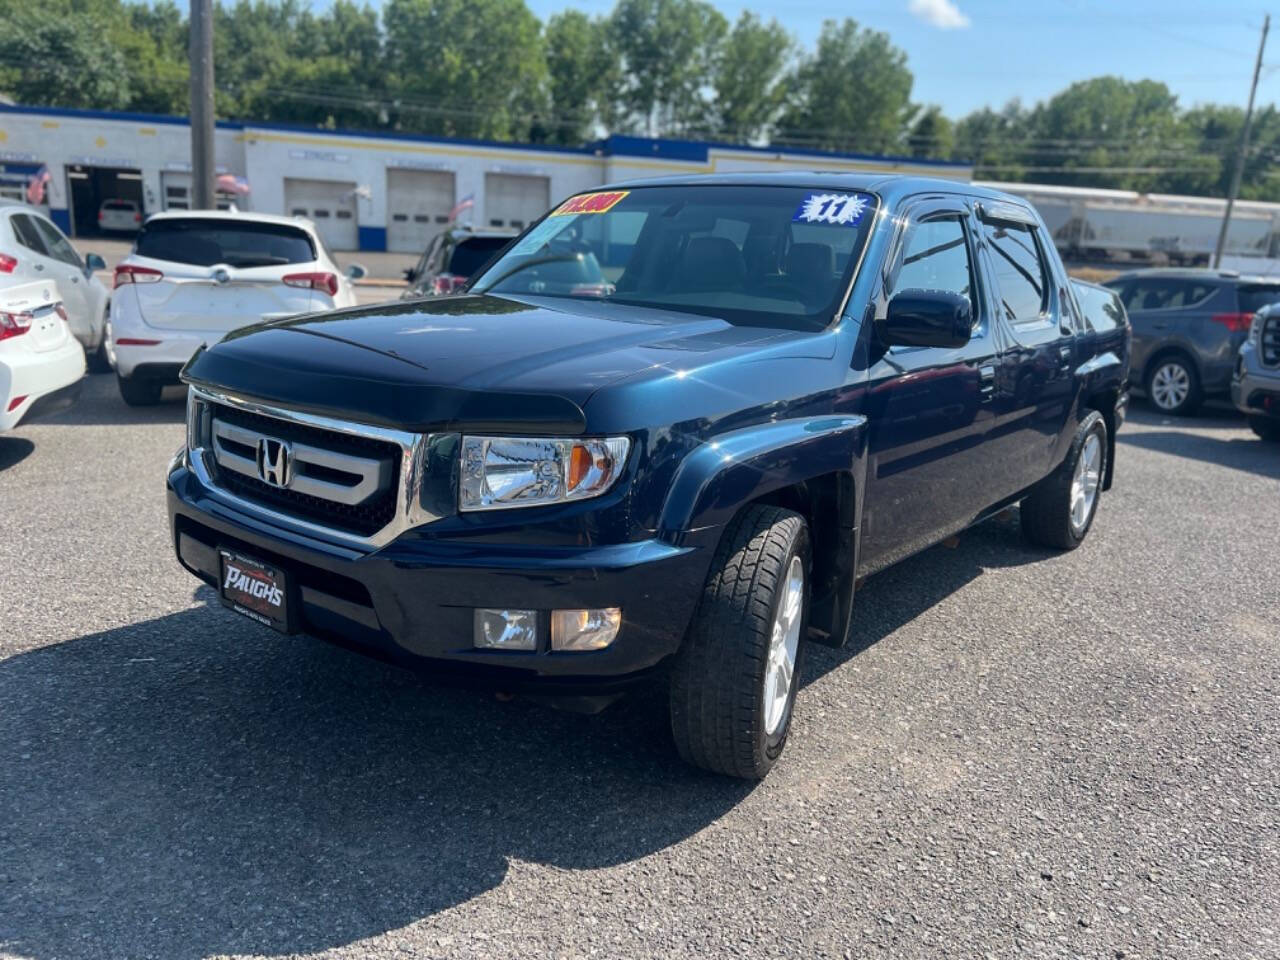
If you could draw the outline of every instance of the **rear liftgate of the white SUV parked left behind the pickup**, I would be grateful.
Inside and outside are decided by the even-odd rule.
[[[136,297],[148,326],[228,333],[262,319],[328,306],[310,287],[284,278],[312,274],[317,251],[292,224],[255,220],[152,219],[138,236],[129,265],[159,271],[118,287]]]

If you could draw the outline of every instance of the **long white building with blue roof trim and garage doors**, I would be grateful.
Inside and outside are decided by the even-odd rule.
[[[553,202],[640,177],[744,170],[914,173],[972,179],[973,168],[914,157],[612,136],[582,147],[219,123],[218,173],[250,192],[219,205],[307,216],[334,250],[417,252],[463,198],[461,223],[522,228]],[[186,118],[0,104],[0,197],[24,198],[42,170],[44,206],[63,230],[99,233],[99,210],[129,200],[145,216],[191,204]]]

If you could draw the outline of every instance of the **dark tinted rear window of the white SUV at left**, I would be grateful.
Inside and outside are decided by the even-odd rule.
[[[151,220],[134,252],[192,266],[276,266],[316,259],[311,237],[297,227],[201,218]]]

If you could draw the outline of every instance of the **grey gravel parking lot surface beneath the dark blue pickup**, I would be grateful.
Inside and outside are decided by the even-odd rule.
[[[175,394],[177,397],[178,394]],[[458,691],[224,612],[179,401],[0,436],[0,954],[1280,956],[1280,448],[1140,404],[1087,544],[869,580],[759,786],[655,695]]]

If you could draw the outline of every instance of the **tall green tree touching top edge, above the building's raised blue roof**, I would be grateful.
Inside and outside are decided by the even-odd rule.
[[[705,128],[705,91],[726,31],[701,0],[618,0],[608,20],[609,51],[621,65],[611,125],[649,136]]]

